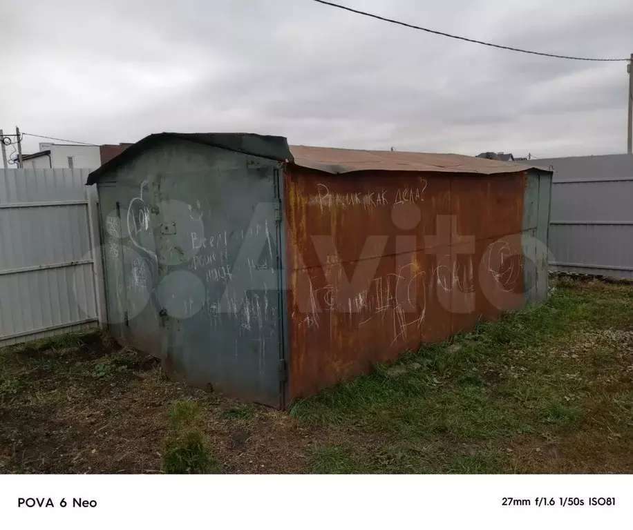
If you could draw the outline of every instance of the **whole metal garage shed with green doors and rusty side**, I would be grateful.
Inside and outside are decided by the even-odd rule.
[[[551,173],[533,166],[162,133],[87,184],[113,337],[252,402],[547,297]]]

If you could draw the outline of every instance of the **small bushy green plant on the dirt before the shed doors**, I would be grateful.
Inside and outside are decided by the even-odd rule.
[[[200,409],[193,401],[176,401],[169,409],[169,433],[164,443],[162,468],[166,473],[215,473],[218,462],[211,457],[202,431]]]

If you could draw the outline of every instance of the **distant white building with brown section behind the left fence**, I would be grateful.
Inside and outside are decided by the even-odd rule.
[[[24,169],[86,168],[96,169],[111,158],[120,155],[132,144],[86,146],[78,144],[49,144],[41,142],[39,151],[22,155]]]

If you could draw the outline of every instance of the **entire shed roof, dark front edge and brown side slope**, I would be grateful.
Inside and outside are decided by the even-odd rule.
[[[517,173],[532,168],[549,171],[518,162],[502,162],[466,155],[440,155],[437,153],[405,153],[401,151],[366,151],[331,147],[292,146],[281,136],[247,133],[160,133],[149,135],[93,171],[86,184],[95,182],[108,171],[124,163],[153,144],[165,139],[184,139],[227,150],[287,161],[296,166],[317,169],[325,173],[351,173],[352,171],[434,171],[444,173]]]

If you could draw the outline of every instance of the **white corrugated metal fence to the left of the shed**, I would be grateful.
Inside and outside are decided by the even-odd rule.
[[[0,346],[104,320],[90,171],[0,170]]]

